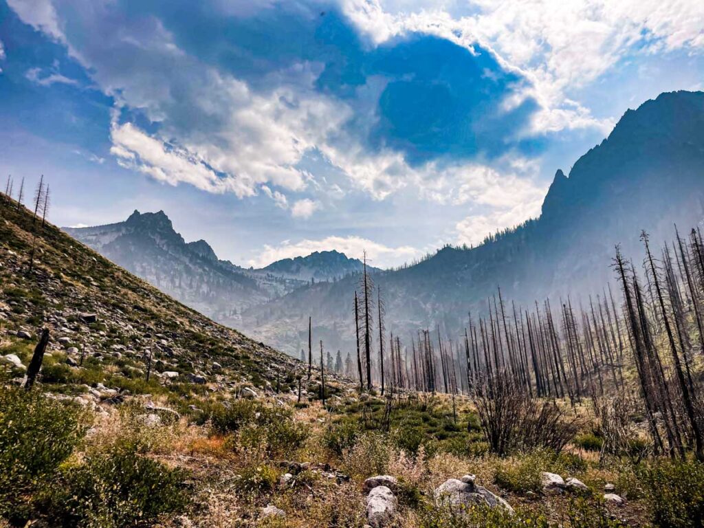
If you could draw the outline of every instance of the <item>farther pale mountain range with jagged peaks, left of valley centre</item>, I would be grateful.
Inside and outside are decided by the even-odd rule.
[[[363,266],[337,251],[316,251],[262,269],[242,268],[220,260],[205,240],[184,241],[163,211],[135,210],[125,222],[63,230],[187,306],[234,327],[241,326],[244,310],[309,282],[358,273]]]

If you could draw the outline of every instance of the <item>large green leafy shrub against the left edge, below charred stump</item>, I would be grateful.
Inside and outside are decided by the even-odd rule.
[[[20,520],[86,430],[80,408],[0,387],[0,516]]]

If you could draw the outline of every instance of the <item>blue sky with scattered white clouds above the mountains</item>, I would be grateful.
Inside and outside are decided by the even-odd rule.
[[[164,210],[244,266],[479,244],[678,89],[699,0],[0,0],[3,190],[43,174],[61,226]]]

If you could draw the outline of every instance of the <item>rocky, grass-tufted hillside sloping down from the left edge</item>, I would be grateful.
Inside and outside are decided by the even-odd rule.
[[[36,256],[28,271],[34,230]],[[178,391],[184,396],[175,400],[179,408],[205,388],[221,396],[244,386],[270,391],[277,377],[292,387],[303,368],[187,308],[57,227],[35,225],[13,202],[0,209],[0,348],[26,365],[39,327],[51,331],[46,384],[101,384],[113,394]]]

